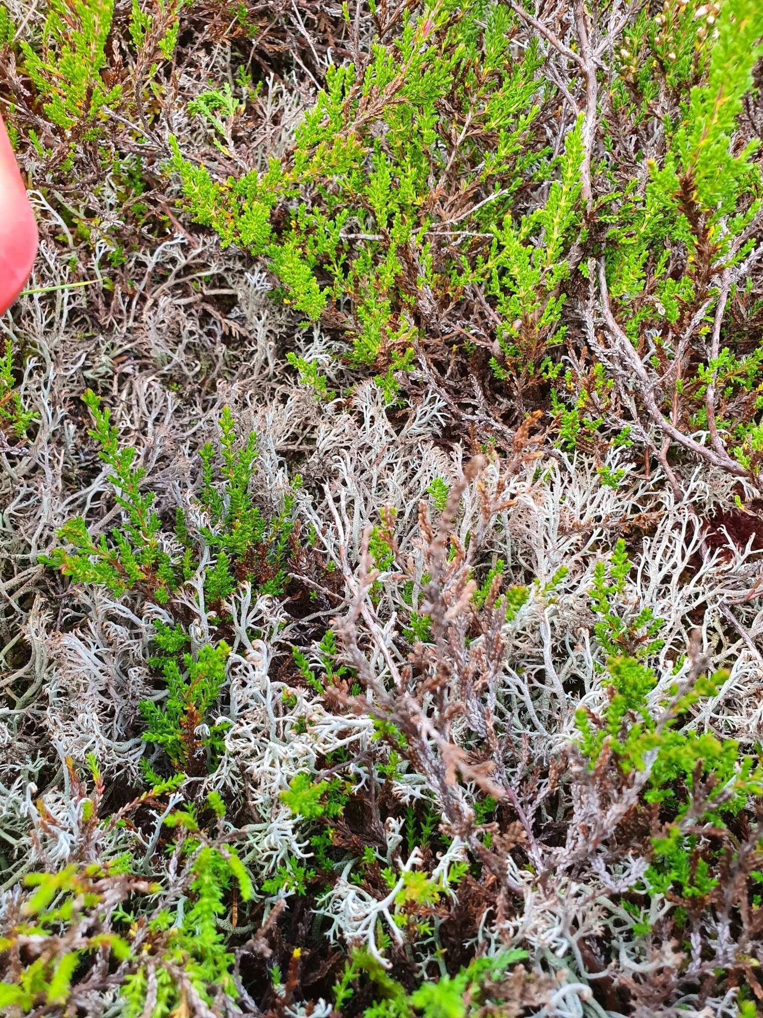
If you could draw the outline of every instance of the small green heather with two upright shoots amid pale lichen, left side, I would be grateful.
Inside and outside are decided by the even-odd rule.
[[[124,523],[98,541],[87,531],[84,519],[69,520],[59,536],[71,550],[55,549],[44,561],[60,569],[75,582],[102,583],[112,593],[138,590],[160,605],[171,602],[181,583],[199,569],[202,550],[209,551],[214,568],[206,571],[203,592],[208,606],[222,608],[241,582],[256,582],[263,593],[280,593],[281,566],[292,531],[293,497],[287,495],[283,512],[266,518],[249,491],[256,436],[250,433],[236,449],[236,426],[226,407],[220,418],[218,450],[207,443],[200,451],[200,486],[194,498],[206,522],[191,527],[185,511],[178,507],[174,526],[168,526],[154,509],[156,494],[140,491],[145,474],[133,467],[134,449],[120,448],[119,433],[111,423],[108,408],[91,390],[82,397],[95,418],[90,435],[99,446],[99,457],[111,469]]]

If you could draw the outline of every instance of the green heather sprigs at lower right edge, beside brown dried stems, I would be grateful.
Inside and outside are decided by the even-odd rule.
[[[759,753],[691,727],[692,708],[715,696],[727,673],[690,674],[655,698],[657,677],[637,659],[612,658],[607,672],[609,699],[603,714],[577,712],[581,751],[591,771],[606,753],[626,783],[641,775],[646,779],[641,793],[645,809],[654,807],[651,815],[660,819],[644,876],[647,892],[702,900],[721,884],[733,861],[733,856],[729,860],[710,850],[704,831],[715,838],[728,831],[735,844],[731,826],[751,801],[763,796]]]

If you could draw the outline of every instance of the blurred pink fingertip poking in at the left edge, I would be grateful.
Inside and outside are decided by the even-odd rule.
[[[37,223],[0,118],[0,315],[23,289],[37,254]]]

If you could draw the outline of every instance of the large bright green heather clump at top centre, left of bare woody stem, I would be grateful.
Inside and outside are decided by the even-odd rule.
[[[531,289],[525,313],[559,342],[554,290],[580,219],[580,129],[555,161],[530,144],[547,86],[536,45],[510,57],[513,24],[503,4],[460,10],[448,0],[406,13],[399,37],[375,43],[362,67],[329,67],[289,159],[261,174],[217,181],[173,142],[189,212],[225,244],[266,258],[298,312],[331,312],[358,362],[404,355],[442,307],[477,287],[496,301],[507,351]],[[458,137],[451,111],[463,119]],[[549,174],[560,179],[545,207],[513,224],[523,181]],[[338,315],[346,295],[351,309]]]

